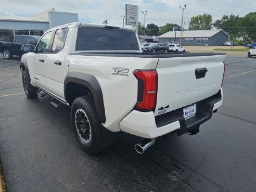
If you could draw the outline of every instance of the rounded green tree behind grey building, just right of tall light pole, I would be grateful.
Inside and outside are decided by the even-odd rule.
[[[190,18],[188,30],[212,29],[212,16],[210,14],[197,15]]]

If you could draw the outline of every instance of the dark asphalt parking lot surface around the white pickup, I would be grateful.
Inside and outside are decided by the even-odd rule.
[[[19,59],[0,59],[0,155],[9,192],[256,191],[256,58],[227,57],[224,104],[195,136],[158,139],[145,155],[121,134],[83,152],[70,109],[23,93]]]

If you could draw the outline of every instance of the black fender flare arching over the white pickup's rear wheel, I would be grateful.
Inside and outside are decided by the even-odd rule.
[[[99,82],[97,81],[95,76],[92,74],[81,73],[81,72],[69,72],[64,81],[64,95],[65,95],[66,101],[67,101],[66,88],[67,88],[67,84],[70,82],[84,85],[89,89],[89,91],[93,95],[98,118],[101,123],[105,123],[106,115],[105,115],[103,94],[102,94]]]

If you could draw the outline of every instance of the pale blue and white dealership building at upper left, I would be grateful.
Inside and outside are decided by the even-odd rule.
[[[12,41],[15,35],[42,35],[61,24],[78,21],[78,14],[54,8],[32,17],[0,16],[0,41]]]

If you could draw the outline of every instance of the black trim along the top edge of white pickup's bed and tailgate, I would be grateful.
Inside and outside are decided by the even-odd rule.
[[[131,52],[81,52],[69,55],[104,56],[104,57],[140,57],[140,58],[172,58],[226,55],[225,53],[131,53]]]

